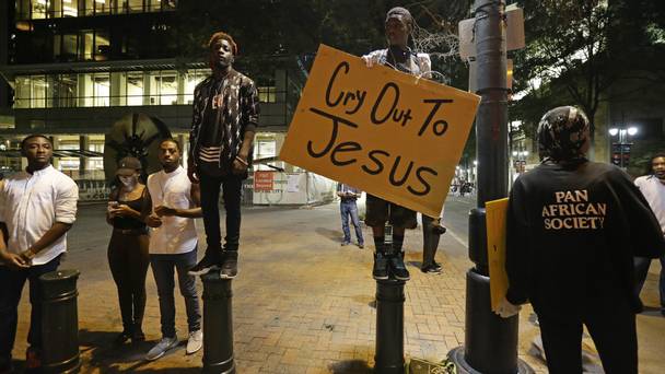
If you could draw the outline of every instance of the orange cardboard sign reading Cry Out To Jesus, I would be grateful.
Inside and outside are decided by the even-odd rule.
[[[322,45],[280,159],[439,217],[479,102]]]

